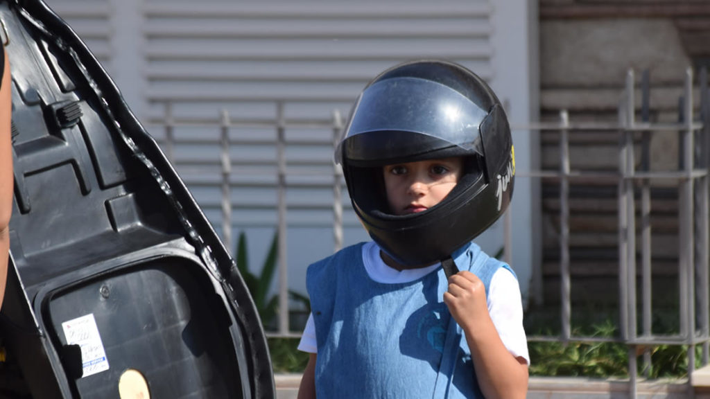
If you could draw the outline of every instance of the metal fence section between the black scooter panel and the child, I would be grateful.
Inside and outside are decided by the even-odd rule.
[[[173,115],[173,105],[165,103],[165,114],[162,120],[151,121],[158,124],[162,131],[154,131],[156,139],[163,148],[165,155],[173,163],[178,173],[188,187],[219,187],[220,199],[218,202],[206,200],[200,202],[203,209],[218,208],[219,229],[222,240],[229,251],[234,250],[234,229],[246,226],[263,226],[269,222],[235,222],[232,211],[241,209],[271,209],[276,214],[275,229],[278,234],[278,331],[268,332],[270,336],[293,337],[289,323],[288,303],[288,227],[302,222],[288,222],[288,212],[295,210],[327,210],[332,212],[329,222],[306,222],[309,226],[321,226],[333,231],[334,251],[343,246],[344,228],[344,179],[342,169],[332,162],[335,146],[340,139],[342,131],[342,116],[336,109],[329,119],[286,119],[285,101],[275,101],[276,116],[268,119],[232,119],[229,112],[222,109],[219,117],[214,119],[180,118]],[[197,128],[206,131],[217,131],[218,136],[177,137],[176,129]],[[275,135],[261,138],[240,137],[240,131],[249,129],[273,129]],[[288,129],[317,129],[331,131],[330,135],[307,136],[291,138],[287,136]],[[176,146],[214,146],[219,148],[219,156],[213,158],[180,158],[176,154]],[[231,155],[231,149],[239,146],[273,146],[275,157],[262,160],[243,161]],[[321,152],[329,154],[323,159],[287,160],[286,149],[295,147],[315,147]],[[241,179],[244,175],[251,175],[256,179]],[[261,177],[261,178],[259,178]],[[273,178],[275,177],[275,179]],[[316,177],[316,179],[313,179]],[[275,187],[275,202],[239,203],[232,198],[233,189],[250,189],[255,187]],[[289,202],[286,192],[288,189],[322,189],[332,188],[332,199],[329,202]],[[346,205],[347,207],[347,205]],[[234,255],[234,254],[233,254]]]

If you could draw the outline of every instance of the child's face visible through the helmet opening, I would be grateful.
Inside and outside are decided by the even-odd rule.
[[[441,202],[461,177],[461,157],[397,163],[383,168],[390,212],[422,212]]]

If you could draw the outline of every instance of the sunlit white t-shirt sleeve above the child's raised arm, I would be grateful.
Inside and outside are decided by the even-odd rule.
[[[518,279],[506,268],[493,274],[488,286],[488,313],[496,326],[501,341],[510,354],[523,357],[530,364],[528,339],[523,328],[523,300]]]

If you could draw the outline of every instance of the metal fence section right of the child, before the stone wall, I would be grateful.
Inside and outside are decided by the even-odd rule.
[[[618,123],[579,123],[569,121],[567,111],[561,111],[559,122],[532,124],[530,129],[559,132],[559,170],[525,173],[529,177],[554,177],[559,180],[559,275],[561,278],[561,334],[530,336],[528,341],[616,342],[628,346],[630,398],[637,397],[638,357],[641,370],[648,372],[652,346],[669,344],[687,346],[688,389],[692,397],[692,373],[695,367],[695,346],[702,346],[701,364],[709,360],[709,289],[708,289],[708,154],[709,125],[707,74],[699,76],[699,106],[694,104],[694,78],[687,70],[682,97],[679,98],[679,118],[674,124],[649,121],[648,73],[641,80],[641,102],[636,101],[635,76],[629,71],[626,89],[618,106]],[[696,114],[699,109],[699,115]],[[636,116],[640,111],[641,120]],[[569,157],[570,133],[618,132],[618,172],[599,173],[571,170]],[[653,134],[677,134],[679,164],[677,170],[650,168],[650,140]],[[640,146],[640,162],[635,148]],[[523,175],[521,173],[520,175]],[[519,176],[520,177],[520,176]],[[570,293],[569,183],[574,180],[618,181],[618,337],[582,337],[572,334]],[[651,182],[677,182],[679,248],[679,333],[652,332],[651,259]],[[638,198],[638,200],[637,200]],[[638,209],[637,202],[640,203]],[[637,229],[637,226],[640,229]],[[637,242],[640,240],[640,243]],[[640,261],[640,262],[639,262]],[[640,263],[640,270],[638,268]],[[638,275],[640,274],[640,279]],[[640,281],[639,281],[640,280]],[[640,295],[637,288],[640,286]],[[639,301],[640,298],[640,301]],[[638,310],[640,309],[640,317]],[[638,331],[638,323],[641,331]],[[638,354],[643,353],[643,356]]]

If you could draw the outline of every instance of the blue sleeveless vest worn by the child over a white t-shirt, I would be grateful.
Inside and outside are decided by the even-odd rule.
[[[367,275],[362,246],[307,271],[318,398],[484,398],[461,327],[442,299],[444,270],[410,283],[377,283]],[[486,294],[496,270],[510,270],[473,243],[452,258],[481,279]]]

